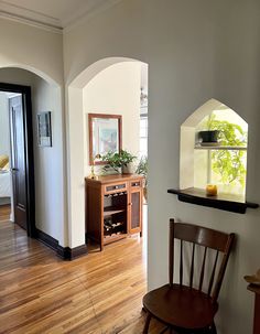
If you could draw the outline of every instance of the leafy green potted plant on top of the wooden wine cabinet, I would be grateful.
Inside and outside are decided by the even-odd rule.
[[[101,157],[101,160],[106,162],[104,171],[108,172],[110,169],[117,173],[132,174],[134,173],[133,161],[136,155],[131,154],[127,150],[120,150],[120,152],[108,152]]]

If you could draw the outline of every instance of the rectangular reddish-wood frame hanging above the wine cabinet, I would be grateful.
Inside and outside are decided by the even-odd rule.
[[[88,114],[89,164],[106,164],[96,157],[122,149],[122,116]]]

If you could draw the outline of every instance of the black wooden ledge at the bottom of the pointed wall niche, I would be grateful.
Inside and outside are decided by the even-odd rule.
[[[207,196],[204,190],[189,187],[185,190],[170,188],[167,193],[177,195],[178,201],[191,204],[215,207],[232,213],[245,214],[247,208],[258,208],[259,204],[245,202],[241,196],[219,194]]]

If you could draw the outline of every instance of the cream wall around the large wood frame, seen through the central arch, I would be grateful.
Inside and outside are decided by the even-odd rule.
[[[85,175],[90,173],[88,114],[122,116],[122,149],[138,155],[141,63],[119,63],[101,71],[83,89],[85,112]]]

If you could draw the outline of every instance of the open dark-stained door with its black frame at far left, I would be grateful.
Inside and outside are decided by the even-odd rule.
[[[0,83],[0,90],[15,93],[9,98],[11,172],[14,223],[35,236],[35,194],[31,88]]]

